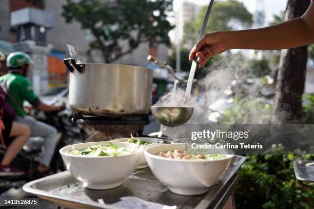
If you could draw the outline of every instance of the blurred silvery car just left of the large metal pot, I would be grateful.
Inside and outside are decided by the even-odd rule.
[[[68,86],[50,88],[48,91],[39,96],[40,100],[45,104],[54,105],[65,103],[66,107],[69,108],[68,97],[69,97]]]

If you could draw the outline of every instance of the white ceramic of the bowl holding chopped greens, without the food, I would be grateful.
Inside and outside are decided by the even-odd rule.
[[[115,142],[119,147],[134,150],[136,144]],[[65,146],[60,154],[72,176],[82,181],[83,185],[91,189],[108,189],[120,186],[124,178],[130,176],[139,163],[143,147],[134,153],[121,156],[75,156],[67,154],[73,149],[86,149],[92,145],[109,146],[108,142],[88,142]]]

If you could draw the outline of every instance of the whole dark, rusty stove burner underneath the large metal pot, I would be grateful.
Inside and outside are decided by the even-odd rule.
[[[141,136],[148,115],[123,115],[119,117],[98,117],[73,115],[73,121],[83,131],[82,138],[86,142],[109,141],[112,139]]]

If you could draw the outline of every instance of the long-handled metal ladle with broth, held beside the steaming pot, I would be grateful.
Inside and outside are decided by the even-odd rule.
[[[210,14],[210,10],[212,8],[214,0],[211,0],[205,17],[204,17],[204,21],[203,21],[203,25],[200,31],[200,35],[199,35],[199,40],[201,39],[201,37],[205,34],[205,29],[207,26],[207,22],[208,22],[208,17]],[[192,63],[192,66],[194,66],[196,68],[196,64],[197,64],[197,57],[195,56],[193,61],[194,63]],[[192,70],[192,72],[195,72],[195,69]],[[189,80],[194,78],[194,73],[190,73],[189,75]],[[188,94],[190,92],[187,92]],[[185,103],[188,101],[188,98],[185,97]],[[185,105],[185,104],[184,104]],[[169,106],[152,106],[151,107],[151,112],[152,115],[155,117],[155,119],[162,125],[165,125],[167,127],[176,127],[176,126],[181,126],[183,124],[185,124],[192,116],[193,114],[193,110],[194,107],[169,107]]]

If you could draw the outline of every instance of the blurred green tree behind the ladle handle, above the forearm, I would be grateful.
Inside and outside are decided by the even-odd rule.
[[[198,17],[184,25],[184,41],[197,42],[203,24],[207,6],[201,8]],[[252,25],[252,14],[243,3],[235,0],[214,2],[206,32],[217,30],[234,30]]]

